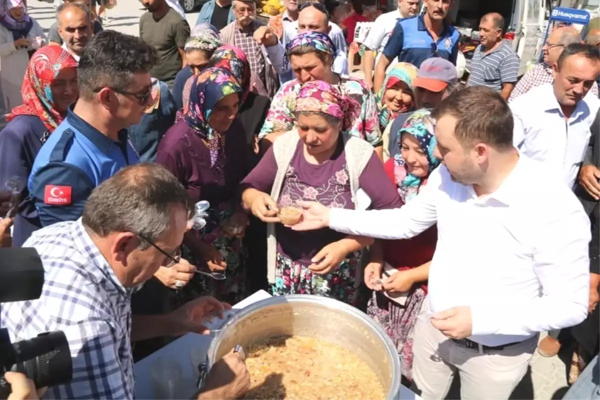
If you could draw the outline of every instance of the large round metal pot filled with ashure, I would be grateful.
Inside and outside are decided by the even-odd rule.
[[[246,354],[244,400],[396,400],[400,361],[394,344],[358,309],[322,296],[260,300],[215,336],[208,367],[236,344]]]

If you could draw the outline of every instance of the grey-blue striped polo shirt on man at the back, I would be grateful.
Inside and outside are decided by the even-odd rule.
[[[517,82],[519,57],[505,40],[487,54],[481,45],[475,49],[470,71],[469,86],[487,86],[500,92],[502,83]]]

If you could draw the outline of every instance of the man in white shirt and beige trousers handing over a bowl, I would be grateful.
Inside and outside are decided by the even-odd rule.
[[[369,211],[303,202],[292,228],[407,239],[437,222],[415,384],[424,400],[443,399],[459,372],[461,398],[506,400],[538,332],[587,316],[589,218],[557,176],[512,146],[511,110],[492,89],[455,92],[431,116],[442,165],[414,200]]]

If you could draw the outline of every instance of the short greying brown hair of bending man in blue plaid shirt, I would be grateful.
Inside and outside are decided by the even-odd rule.
[[[142,163],[125,167],[89,195],[82,223],[98,236],[133,232],[155,242],[169,229],[172,206],[191,216],[194,203],[165,167]],[[142,248],[148,243],[142,241]]]

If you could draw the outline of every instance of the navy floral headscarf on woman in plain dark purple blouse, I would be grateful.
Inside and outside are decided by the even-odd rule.
[[[206,140],[211,151],[211,167],[217,165],[219,155],[223,151],[222,133],[215,131],[208,124],[212,109],[222,98],[230,94],[237,94],[239,103],[242,92],[238,80],[222,68],[207,68],[194,77],[190,89],[190,103],[184,119],[202,139]]]

